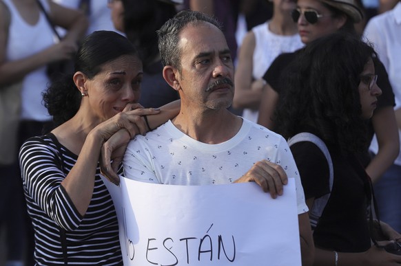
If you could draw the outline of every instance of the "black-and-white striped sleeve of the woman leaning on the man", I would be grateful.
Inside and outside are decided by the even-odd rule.
[[[78,228],[83,217],[61,186],[65,173],[55,148],[32,137],[21,147],[19,160],[25,196],[65,230]]]

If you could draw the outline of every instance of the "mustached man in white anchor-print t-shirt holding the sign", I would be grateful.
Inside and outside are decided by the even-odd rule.
[[[128,144],[125,177],[174,185],[255,181],[274,198],[282,195],[287,177],[295,178],[302,265],[311,265],[308,209],[287,142],[227,110],[234,96],[234,66],[218,23],[183,11],[161,27],[158,38],[163,77],[180,94],[181,111]]]

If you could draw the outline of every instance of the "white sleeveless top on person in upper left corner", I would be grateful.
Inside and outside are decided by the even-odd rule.
[[[2,0],[10,10],[11,20],[8,31],[6,60],[19,60],[41,52],[54,44],[52,28],[40,13],[36,25],[30,25],[23,20],[11,0]],[[46,10],[50,7],[47,1],[41,0]],[[42,103],[42,92],[49,83],[46,67],[40,67],[25,76],[21,91],[21,119],[34,121],[50,121],[52,118]]]

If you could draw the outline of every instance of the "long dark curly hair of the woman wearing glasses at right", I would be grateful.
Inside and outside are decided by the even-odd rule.
[[[283,75],[278,133],[288,138],[311,130],[342,153],[364,151],[367,129],[358,87],[365,65],[375,57],[370,45],[342,32],[301,49]]]

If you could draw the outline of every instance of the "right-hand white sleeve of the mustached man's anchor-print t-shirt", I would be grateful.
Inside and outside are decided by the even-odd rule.
[[[278,148],[278,157],[276,159],[276,164],[280,164],[280,166],[285,170],[288,178],[295,178],[296,184],[296,199],[297,199],[297,209],[298,214],[302,214],[308,211],[307,204],[305,203],[305,194],[302,188],[302,183],[300,180],[300,175],[298,172],[298,168],[294,161],[294,157],[291,154],[291,150],[287,142],[282,138],[279,148]]]

